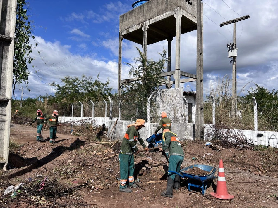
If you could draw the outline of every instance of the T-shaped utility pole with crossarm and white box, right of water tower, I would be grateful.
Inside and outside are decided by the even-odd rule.
[[[231,109],[231,116],[236,117],[236,56],[237,56],[237,49],[236,48],[236,22],[239,22],[241,20],[246,20],[250,18],[249,15],[236,18],[233,20],[229,20],[226,22],[222,22],[220,24],[220,27],[224,25],[229,25],[231,23],[234,23],[234,37],[233,37],[233,43],[227,44],[228,49],[228,57],[233,57],[233,69],[232,69],[232,109]]]

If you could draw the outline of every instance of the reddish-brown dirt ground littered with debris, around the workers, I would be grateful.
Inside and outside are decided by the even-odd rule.
[[[34,126],[11,124],[10,139],[21,146],[10,153],[9,170],[0,171],[1,195],[9,185],[25,184],[16,197],[9,198],[11,193],[1,196],[0,207],[278,207],[278,155],[272,149],[238,150],[220,144],[205,146],[205,141],[182,141],[183,168],[207,164],[218,170],[223,159],[227,189],[234,199],[220,200],[210,195],[216,190],[218,171],[205,195],[199,188],[188,191],[185,178],[179,190],[174,190],[173,198],[164,198],[160,193],[167,185],[168,163],[160,152],[135,155],[134,176],[143,189],[123,193],[119,192],[118,157],[101,160],[117,154],[121,143],[105,136],[101,140],[90,135],[74,136],[70,131],[69,126],[59,126],[56,143],[50,145],[47,129],[43,131],[45,142],[36,142]],[[140,144],[138,147],[142,149]],[[20,173],[32,162],[36,165]],[[19,174],[7,179],[15,172]],[[49,186],[40,186],[45,178]]]

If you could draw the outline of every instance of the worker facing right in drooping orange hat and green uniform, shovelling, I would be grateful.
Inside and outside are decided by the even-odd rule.
[[[139,130],[144,126],[145,120],[137,119],[135,123],[128,125],[128,129],[123,137],[121,144],[119,161],[120,161],[120,191],[121,192],[132,192],[130,188],[137,188],[138,186],[134,183],[134,152],[139,153],[138,147],[136,146],[137,141],[148,151],[144,140],[140,137]],[[129,187],[129,188],[128,188]]]

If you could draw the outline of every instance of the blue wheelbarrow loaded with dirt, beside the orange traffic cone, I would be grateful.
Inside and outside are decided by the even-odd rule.
[[[184,171],[188,171],[189,169],[191,169],[193,167],[197,167],[204,171],[207,171],[207,172],[209,172],[209,174],[206,176],[198,176],[198,175],[189,174],[189,173],[184,172]],[[203,195],[206,193],[207,185],[209,184],[209,182],[212,182],[212,179],[215,178],[215,176],[214,176],[215,171],[216,171],[216,168],[212,167],[210,165],[191,165],[191,166],[181,169],[181,173],[177,173],[175,171],[168,170],[169,173],[177,174],[177,175],[181,176],[182,178],[188,178],[188,190],[191,191],[190,186],[193,186],[196,188],[201,188]]]

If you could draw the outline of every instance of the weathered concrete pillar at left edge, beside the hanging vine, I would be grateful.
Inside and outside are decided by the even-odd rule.
[[[16,0],[0,0],[0,168],[9,156]]]

